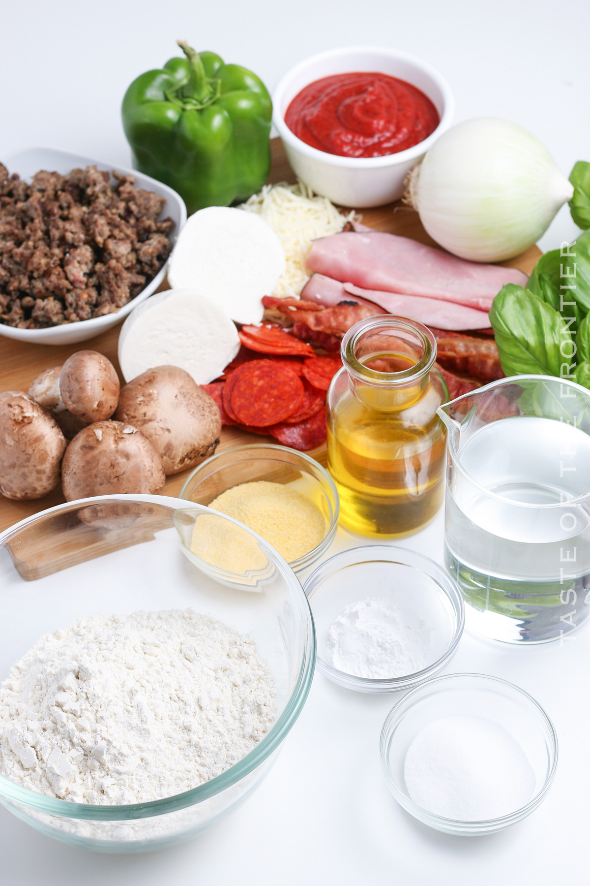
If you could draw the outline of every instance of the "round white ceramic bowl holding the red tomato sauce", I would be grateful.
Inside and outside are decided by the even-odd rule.
[[[288,106],[309,83],[349,71],[379,71],[417,86],[431,99],[441,122],[423,142],[386,157],[339,157],[310,147],[287,127]],[[433,67],[406,52],[373,46],[329,50],[307,58],[281,79],[274,90],[272,105],[272,120],[295,174],[333,203],[355,207],[383,206],[402,197],[405,176],[448,129],[455,110],[448,83]]]

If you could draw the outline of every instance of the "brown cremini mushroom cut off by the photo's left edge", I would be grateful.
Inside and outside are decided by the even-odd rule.
[[[59,483],[66,441],[55,419],[22,391],[0,393],[0,493],[37,499]]]

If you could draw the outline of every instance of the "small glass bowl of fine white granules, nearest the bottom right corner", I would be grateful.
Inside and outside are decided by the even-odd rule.
[[[389,712],[381,766],[397,802],[445,834],[493,834],[545,799],[557,736],[532,696],[506,680],[453,673],[428,680]]]

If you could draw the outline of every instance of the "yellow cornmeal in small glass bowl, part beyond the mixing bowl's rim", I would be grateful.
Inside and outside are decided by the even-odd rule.
[[[241,483],[218,495],[209,507],[258,532],[287,563],[309,553],[326,534],[318,505],[280,483]]]

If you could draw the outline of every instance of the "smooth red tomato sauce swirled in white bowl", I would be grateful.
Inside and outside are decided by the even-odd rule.
[[[288,128],[318,151],[384,157],[423,142],[441,118],[424,92],[387,74],[351,72],[305,86],[287,108]]]

